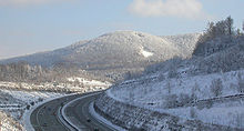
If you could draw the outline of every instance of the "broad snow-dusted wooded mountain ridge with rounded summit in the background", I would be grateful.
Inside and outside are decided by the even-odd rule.
[[[173,57],[191,56],[197,38],[199,34],[156,37],[136,31],[116,31],[62,49],[1,60],[0,63],[27,61],[44,67],[71,63],[83,69],[145,67]]]

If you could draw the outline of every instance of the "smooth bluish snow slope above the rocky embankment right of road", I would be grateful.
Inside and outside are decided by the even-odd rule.
[[[124,82],[108,90],[106,93],[115,100],[150,110],[166,112],[185,120],[195,119],[205,123],[244,128],[244,101],[241,98],[223,100],[223,102],[214,101],[209,108],[196,105],[166,108],[169,95],[174,95],[175,100],[182,101],[183,99],[191,98],[192,94],[197,100],[211,100],[242,94],[238,88],[240,81],[244,80],[243,74],[244,70],[240,70],[207,75],[151,80],[146,82],[135,81],[128,84]],[[216,80],[221,80],[223,87],[221,94],[217,97],[212,91],[213,82]]]

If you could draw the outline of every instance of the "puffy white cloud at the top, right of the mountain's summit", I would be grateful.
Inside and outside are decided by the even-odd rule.
[[[133,0],[129,11],[141,17],[209,18],[199,0]]]

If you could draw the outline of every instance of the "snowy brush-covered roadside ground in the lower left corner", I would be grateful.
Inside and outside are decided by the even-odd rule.
[[[1,122],[3,131],[27,130],[27,115],[30,115],[30,109],[50,98],[64,95],[64,93],[44,92],[44,91],[18,91],[0,90],[1,94]],[[3,124],[4,123],[4,124]]]

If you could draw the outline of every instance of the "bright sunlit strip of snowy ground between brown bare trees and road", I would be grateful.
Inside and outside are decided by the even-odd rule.
[[[67,78],[69,82],[44,82],[44,83],[26,83],[26,82],[4,82],[0,81],[0,89],[7,90],[39,90],[52,92],[88,92],[95,90],[103,90],[111,85],[108,81],[88,80],[84,78],[71,77]]]

